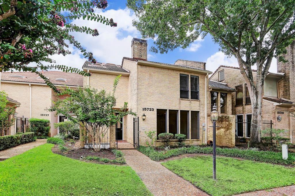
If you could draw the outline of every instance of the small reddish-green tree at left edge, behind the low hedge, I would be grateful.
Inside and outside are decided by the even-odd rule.
[[[8,106],[7,94],[0,91],[0,136],[4,135],[7,129],[14,124],[13,114],[18,106]]]

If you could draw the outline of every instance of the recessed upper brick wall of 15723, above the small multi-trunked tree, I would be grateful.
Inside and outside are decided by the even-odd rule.
[[[89,86],[98,89],[98,91],[105,89],[106,92],[112,92],[114,79],[116,77],[117,75],[113,74],[91,73],[91,76],[89,77]],[[128,101],[128,85],[126,85],[128,84],[128,81],[128,76],[120,77],[117,90],[115,92],[115,97],[117,99],[116,108],[122,107],[124,102]],[[87,77],[84,77],[83,79],[83,86],[87,86]]]

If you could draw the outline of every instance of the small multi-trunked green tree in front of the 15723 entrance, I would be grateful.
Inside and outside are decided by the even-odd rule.
[[[84,142],[91,141],[90,148],[100,150],[101,142],[110,127],[128,114],[136,115],[127,109],[127,102],[120,109],[116,106],[115,92],[121,75],[114,80],[113,91],[107,93],[104,89],[98,91],[95,88],[80,87],[77,90],[66,88],[57,95],[69,96],[65,99],[57,98],[49,111],[56,111],[68,120],[80,124],[85,129]],[[97,145],[95,145],[97,144]]]

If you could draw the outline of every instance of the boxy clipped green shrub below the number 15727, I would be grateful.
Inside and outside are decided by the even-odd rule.
[[[40,139],[45,139],[48,136],[50,126],[50,121],[47,119],[31,118],[30,131],[35,133],[35,136]]]

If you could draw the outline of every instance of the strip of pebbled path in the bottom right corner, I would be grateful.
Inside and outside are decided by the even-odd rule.
[[[262,191],[248,192],[238,196],[295,196],[295,185]],[[237,196],[237,195],[236,195]]]

